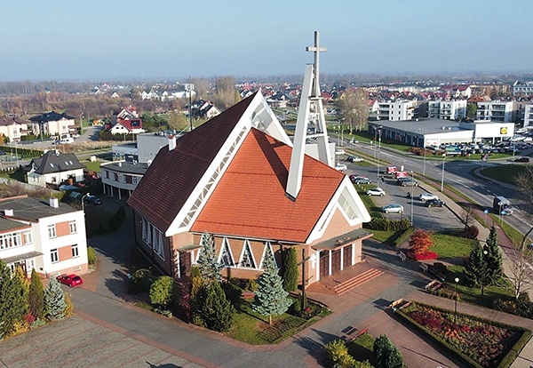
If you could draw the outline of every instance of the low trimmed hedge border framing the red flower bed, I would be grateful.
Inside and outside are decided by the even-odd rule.
[[[415,321],[414,319],[412,319],[410,316],[407,316],[407,314],[405,312],[411,310],[412,308],[415,308],[417,305],[428,307],[428,308],[433,308],[434,310],[438,310],[438,311],[441,311],[441,312],[453,313],[453,311],[451,311],[449,309],[438,308],[438,307],[430,306],[430,305],[427,305],[427,304],[418,303],[417,301],[412,301],[411,305],[408,308],[397,309],[395,313],[396,313],[396,315],[401,316],[408,323],[410,323],[413,326],[417,327],[421,332],[426,333],[426,335],[428,335],[429,337],[433,338],[437,342],[441,343],[442,346],[444,346],[445,348],[448,348],[449,352],[452,353],[453,356],[457,356],[457,358],[459,358],[460,360],[462,360],[466,364],[470,364],[471,366],[473,366],[475,368],[483,368],[483,366],[481,364],[475,362],[472,358],[470,358],[470,356],[465,356],[465,354],[463,354],[461,351],[457,350],[457,348],[455,348],[453,345],[449,344],[448,341],[442,340],[439,336],[435,335],[433,332],[431,332],[428,329],[426,329],[426,327],[424,327],[421,324],[418,324],[418,322]],[[468,317],[468,318],[470,318],[470,319],[472,319],[474,321],[479,321],[479,322],[483,322],[483,323],[490,323],[490,324],[495,325],[497,327],[502,327],[502,328],[507,328],[507,329],[511,329],[511,330],[514,330],[514,331],[521,331],[522,332],[521,337],[514,343],[513,348],[511,348],[507,352],[507,354],[502,358],[502,361],[497,365],[497,368],[508,368],[509,366],[511,366],[511,364],[513,364],[513,361],[516,358],[516,356],[518,356],[518,354],[520,353],[521,349],[526,345],[526,343],[531,338],[531,332],[529,330],[521,328],[521,327],[512,326],[512,325],[509,325],[509,324],[501,324],[501,323],[499,323],[497,321],[492,321],[492,320],[489,320],[489,319],[486,319],[486,318],[481,318],[479,316],[466,315],[464,313],[457,313],[457,316],[466,316],[466,317]]]

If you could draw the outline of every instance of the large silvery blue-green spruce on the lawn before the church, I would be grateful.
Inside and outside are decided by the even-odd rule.
[[[272,257],[263,260],[265,271],[258,277],[258,291],[251,308],[262,316],[268,316],[268,323],[272,324],[272,316],[285,313],[292,304],[288,298],[289,292],[283,289],[282,277],[278,275]]]

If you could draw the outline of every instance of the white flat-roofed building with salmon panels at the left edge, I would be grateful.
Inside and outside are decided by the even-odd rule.
[[[13,196],[0,200],[0,259],[27,275],[88,271],[84,212],[57,198]]]

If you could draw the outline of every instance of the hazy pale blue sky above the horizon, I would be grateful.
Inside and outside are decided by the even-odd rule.
[[[533,70],[533,0],[2,3],[2,81]]]

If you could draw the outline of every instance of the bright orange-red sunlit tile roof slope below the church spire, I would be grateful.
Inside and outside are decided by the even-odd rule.
[[[252,129],[192,231],[306,242],[344,174],[305,156],[302,188],[293,202],[285,196],[291,152]]]

